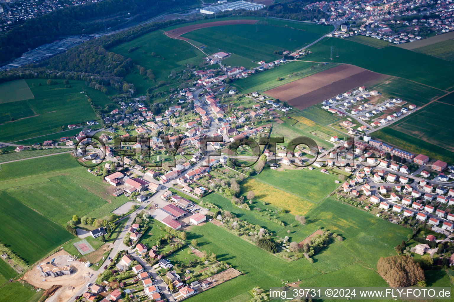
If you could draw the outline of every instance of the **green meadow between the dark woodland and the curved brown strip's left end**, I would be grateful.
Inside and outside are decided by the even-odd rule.
[[[128,49],[133,47],[139,48],[128,53]],[[135,64],[153,70],[155,81],[143,80],[143,76],[138,73],[129,73],[126,76],[125,80],[134,83],[140,91],[138,93],[144,93],[146,88],[155,86],[159,81],[168,81],[172,70],[179,72],[189,63],[197,66],[205,57],[200,50],[189,43],[169,38],[163,30],[144,34],[109,51],[131,58]],[[155,56],[152,55],[153,52]]]

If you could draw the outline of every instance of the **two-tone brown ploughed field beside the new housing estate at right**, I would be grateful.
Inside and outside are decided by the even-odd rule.
[[[298,109],[305,109],[330,97],[382,77],[353,65],[343,64],[309,77],[273,88],[264,93]]]

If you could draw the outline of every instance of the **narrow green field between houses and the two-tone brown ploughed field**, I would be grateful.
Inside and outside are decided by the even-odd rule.
[[[237,80],[234,82],[234,85],[241,93],[245,94],[253,91],[263,92],[336,66],[337,64],[319,66],[310,62],[288,62],[252,75],[251,77]],[[283,77],[284,79],[278,81],[278,77]]]

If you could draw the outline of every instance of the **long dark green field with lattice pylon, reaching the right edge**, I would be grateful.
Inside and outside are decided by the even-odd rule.
[[[339,58],[330,58],[339,51]],[[353,64],[374,72],[416,81],[438,89],[449,89],[454,83],[453,62],[415,53],[399,47],[374,48],[341,38],[324,38],[309,48],[308,61]],[[366,55],[367,54],[367,55]],[[370,58],[374,58],[371,60]],[[443,74],[443,77],[440,77]]]

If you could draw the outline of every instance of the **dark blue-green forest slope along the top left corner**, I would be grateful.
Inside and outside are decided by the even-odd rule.
[[[109,27],[115,29],[137,24],[194,3],[197,0],[109,0],[57,10],[29,19],[1,35],[0,64],[9,62],[29,48],[50,43],[59,37],[93,34]]]

